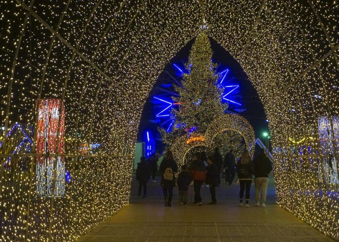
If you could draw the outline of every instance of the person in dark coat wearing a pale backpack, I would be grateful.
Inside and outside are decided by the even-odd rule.
[[[174,161],[171,151],[166,152],[165,158],[160,164],[159,171],[162,174],[160,184],[163,188],[165,206],[170,207],[173,197],[173,187],[175,186],[174,173],[178,172],[178,166]]]

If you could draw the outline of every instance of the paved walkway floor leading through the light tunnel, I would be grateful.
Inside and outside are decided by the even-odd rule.
[[[80,242],[214,242],[214,241],[333,241],[290,212],[275,205],[274,181],[270,179],[266,208],[254,206],[254,184],[250,208],[238,206],[237,184],[216,188],[217,205],[208,205],[209,188],[203,187],[204,204],[194,206],[193,186],[189,206],[177,205],[174,188],[172,207],[164,207],[159,183],[148,183],[148,197],[137,197],[132,183],[131,204],[104,223],[93,227]]]

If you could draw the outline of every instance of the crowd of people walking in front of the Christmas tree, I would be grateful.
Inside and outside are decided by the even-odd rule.
[[[188,187],[193,181],[194,187],[194,203],[201,206],[201,186],[206,184],[210,189],[211,202],[210,205],[216,204],[216,187],[221,183],[221,173],[225,173],[226,184],[231,185],[235,174],[237,173],[240,185],[239,206],[249,207],[249,194],[254,176],[255,184],[255,205],[266,206],[266,193],[268,184],[268,174],[272,171],[272,164],[267,158],[265,151],[261,148],[258,155],[252,160],[247,150],[243,151],[238,162],[235,162],[234,151],[230,150],[222,159],[218,148],[212,156],[206,155],[205,152],[196,152],[194,159],[190,163],[190,167],[183,165],[176,179],[175,174],[178,173],[178,166],[174,161],[171,151],[167,151],[160,166],[158,166],[158,156],[152,154],[147,162],[142,156],[138,163],[136,179],[139,181],[138,196],[141,197],[143,190],[143,198],[147,196],[147,181],[152,179],[154,182],[155,174],[159,170],[161,174],[160,184],[163,189],[164,203],[166,207],[171,206],[173,198],[173,189],[178,185],[179,205],[187,206],[188,203]],[[245,200],[244,200],[245,193]]]

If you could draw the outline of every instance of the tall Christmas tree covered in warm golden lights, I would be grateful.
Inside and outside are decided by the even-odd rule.
[[[220,76],[215,73],[212,53],[210,40],[201,31],[186,63],[188,74],[183,75],[183,88],[175,88],[180,97],[174,98],[179,103],[179,110],[172,109],[175,117],[172,135],[204,133],[228,107],[220,98],[224,89],[217,83]]]

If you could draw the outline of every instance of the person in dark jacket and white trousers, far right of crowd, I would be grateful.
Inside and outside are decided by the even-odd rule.
[[[254,158],[254,184],[255,184],[255,205],[260,206],[260,190],[262,192],[262,207],[266,206],[266,194],[268,184],[268,174],[272,171],[271,161],[265,155],[265,151],[260,148],[259,154]]]

